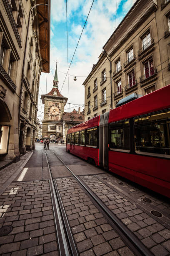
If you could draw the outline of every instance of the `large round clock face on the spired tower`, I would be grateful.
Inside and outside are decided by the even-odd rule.
[[[59,102],[48,102],[48,119],[60,120],[61,105]]]

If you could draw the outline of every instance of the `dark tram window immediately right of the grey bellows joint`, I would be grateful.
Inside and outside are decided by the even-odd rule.
[[[110,124],[110,149],[130,151],[129,120]]]

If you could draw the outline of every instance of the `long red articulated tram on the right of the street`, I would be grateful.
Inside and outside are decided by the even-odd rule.
[[[66,151],[170,197],[170,85],[70,128]]]

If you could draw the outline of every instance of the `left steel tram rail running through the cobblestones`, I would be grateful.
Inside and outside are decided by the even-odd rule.
[[[64,206],[62,204],[62,200],[61,200],[61,197],[60,197],[60,192],[58,190],[58,187],[57,187],[57,184],[55,182],[55,178],[53,177],[52,175],[52,171],[51,171],[51,168],[50,168],[50,161],[47,157],[47,150],[45,150],[45,156],[47,158],[47,164],[48,164],[48,168],[49,168],[49,173],[50,173],[50,181],[51,181],[51,184],[52,184],[52,192],[54,194],[54,198],[55,198],[55,205],[57,207],[56,210],[57,210],[57,216],[54,214],[55,216],[55,222],[57,223],[57,218],[58,218],[58,222],[59,222],[59,225],[60,225],[60,234],[57,234],[57,238],[58,238],[58,243],[59,243],[59,246],[60,246],[60,243],[61,243],[61,248],[60,248],[60,255],[61,256],[64,256],[64,255],[72,255],[72,256],[78,256],[79,253],[77,251],[77,247],[75,245],[75,241],[74,241],[74,238],[72,236],[72,231],[70,229],[70,225],[68,223],[68,220],[67,220],[67,215],[65,213],[65,210],[64,210]],[[57,228],[56,228],[57,229]],[[59,233],[59,232],[58,232]],[[61,237],[63,239],[63,241],[61,241]],[[63,245],[64,245],[64,248],[65,248],[65,252],[69,253],[63,253]]]

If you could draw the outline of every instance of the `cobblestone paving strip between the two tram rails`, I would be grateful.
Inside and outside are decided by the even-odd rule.
[[[134,255],[75,179],[59,178],[56,183],[80,256]]]

